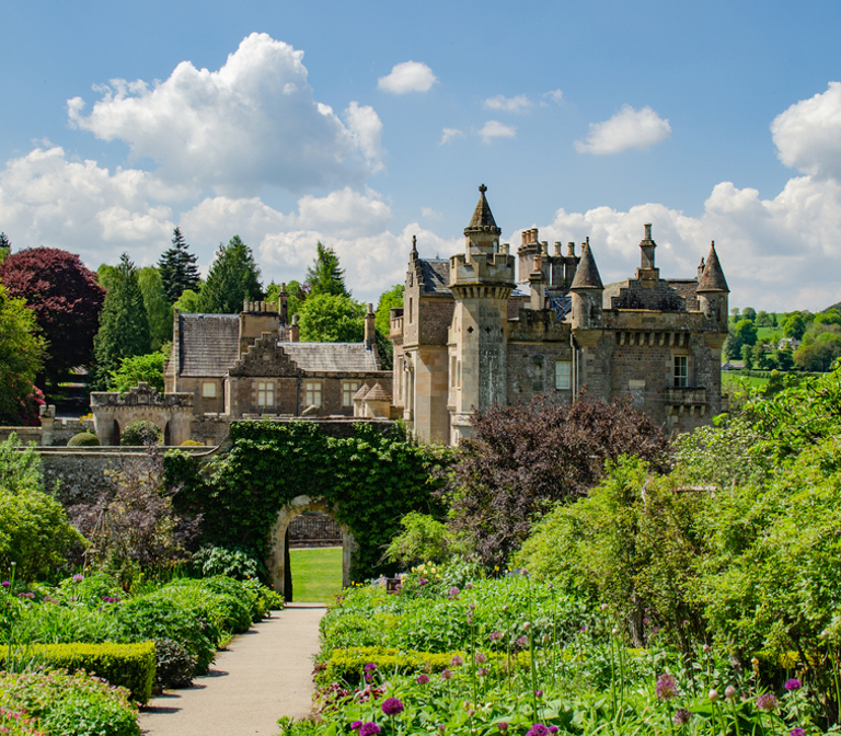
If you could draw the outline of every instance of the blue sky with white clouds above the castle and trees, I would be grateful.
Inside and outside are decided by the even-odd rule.
[[[661,276],[715,241],[730,306],[841,301],[841,3],[0,2],[0,231],[87,265],[267,285],[318,241],[356,298],[464,248],[589,238],[604,283],[653,223]]]

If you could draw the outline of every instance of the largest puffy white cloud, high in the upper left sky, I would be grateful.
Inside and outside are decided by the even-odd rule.
[[[381,124],[352,103],[347,124],[313,99],[303,51],[253,33],[218,71],[182,61],[149,85],[112,80],[84,116],[68,101],[70,124],[104,140],[122,139],[159,164],[168,181],[220,193],[256,194],[263,185],[300,192],[358,183],[381,168]]]

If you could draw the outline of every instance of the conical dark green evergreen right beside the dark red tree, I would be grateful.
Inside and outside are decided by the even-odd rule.
[[[94,387],[104,390],[111,371],[123,358],[149,353],[151,335],[137,268],[124,253],[105,304],[100,313],[100,331],[93,341],[96,356]]]

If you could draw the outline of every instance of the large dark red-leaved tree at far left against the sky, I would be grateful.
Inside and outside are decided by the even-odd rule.
[[[47,340],[48,380],[57,382],[69,368],[91,363],[105,289],[78,255],[56,248],[18,251],[0,263],[0,281],[35,313]]]

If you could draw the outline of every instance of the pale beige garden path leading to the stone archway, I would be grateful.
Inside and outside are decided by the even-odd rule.
[[[321,603],[288,603],[219,652],[186,690],[152,698],[140,713],[149,736],[274,736],[281,715],[310,713]]]

